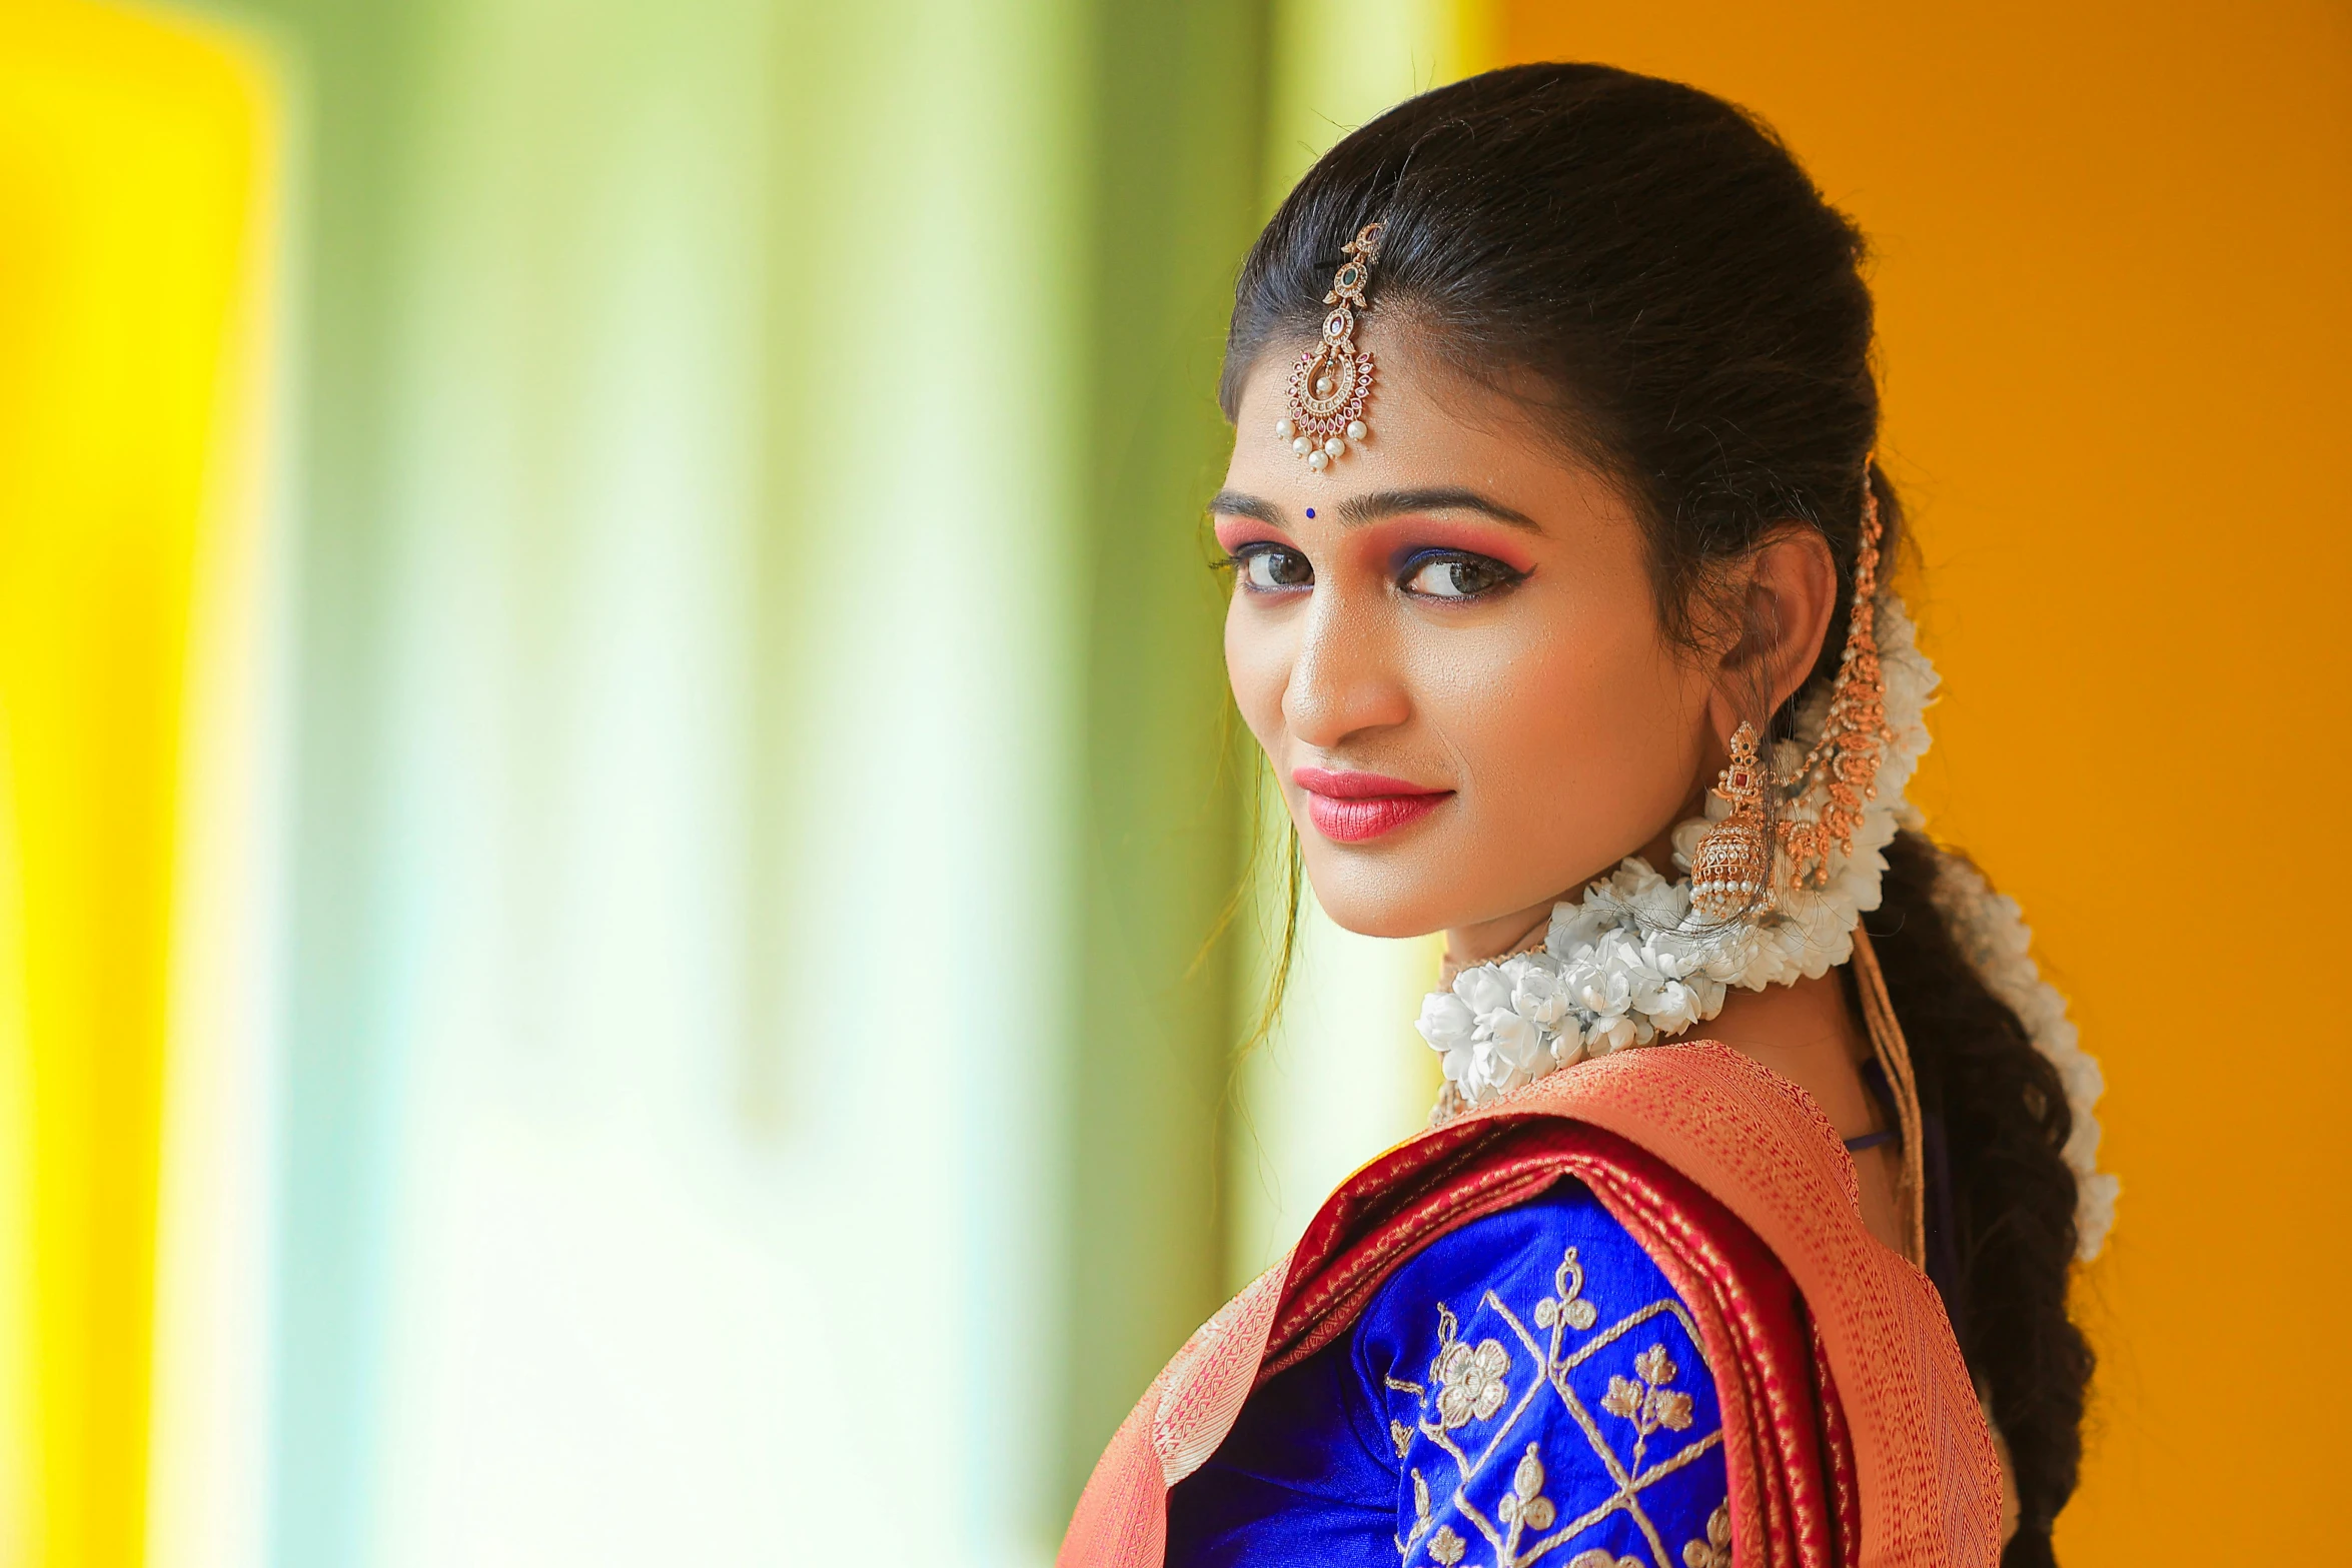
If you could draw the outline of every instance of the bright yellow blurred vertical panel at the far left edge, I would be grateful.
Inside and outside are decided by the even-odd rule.
[[[188,26],[0,7],[0,1559],[143,1552],[191,574],[261,87]]]

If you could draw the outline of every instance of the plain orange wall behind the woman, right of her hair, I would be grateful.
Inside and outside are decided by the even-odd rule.
[[[1750,106],[1877,244],[1922,799],[2107,1070],[2070,1568],[2343,1552],[2352,12],[1505,5]]]

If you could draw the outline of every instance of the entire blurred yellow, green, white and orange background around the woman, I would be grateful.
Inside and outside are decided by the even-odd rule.
[[[1435,1084],[1312,917],[1240,1051],[1200,508],[1272,202],[1515,59],[1877,242],[2065,1561],[2343,1549],[2343,5],[0,0],[0,1561],[1044,1563]]]

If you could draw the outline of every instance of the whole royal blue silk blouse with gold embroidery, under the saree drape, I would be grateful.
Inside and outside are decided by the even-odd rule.
[[[1698,1331],[1578,1182],[1439,1237],[1169,1493],[1169,1568],[1729,1568]]]

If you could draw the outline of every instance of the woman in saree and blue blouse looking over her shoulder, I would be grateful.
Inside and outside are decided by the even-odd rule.
[[[1065,1563],[2051,1561],[2098,1070],[1903,802],[1860,256],[1764,127],[1602,66],[1414,99],[1261,235],[1232,691],[1322,907],[1446,933],[1444,1093]]]

